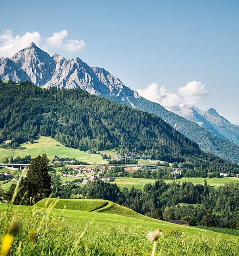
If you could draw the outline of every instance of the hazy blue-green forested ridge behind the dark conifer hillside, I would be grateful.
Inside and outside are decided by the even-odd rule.
[[[184,134],[190,140],[196,142],[199,147],[204,152],[210,152],[220,158],[229,160],[231,162],[239,162],[239,146],[218,137],[210,131],[203,129],[196,123],[193,123],[179,115],[176,115],[158,103],[151,102],[145,98],[135,98],[134,96],[129,96],[128,100],[121,100],[117,96],[112,96],[108,94],[102,94],[104,98],[113,100],[114,102],[125,104],[126,106],[132,107],[131,103],[142,111],[149,111],[160,118],[162,118],[166,123],[170,124],[177,131]]]

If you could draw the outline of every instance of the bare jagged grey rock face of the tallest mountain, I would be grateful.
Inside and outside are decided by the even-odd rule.
[[[109,94],[121,98],[134,93],[105,69],[92,68],[80,58],[69,60],[58,54],[51,57],[34,43],[10,59],[0,58],[0,78],[16,82],[29,80],[44,88],[81,88],[90,94]]]

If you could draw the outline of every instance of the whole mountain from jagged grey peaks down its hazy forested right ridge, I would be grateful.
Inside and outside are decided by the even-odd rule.
[[[239,163],[239,146],[229,139],[218,137],[155,102],[140,97],[108,71],[90,67],[80,58],[67,59],[54,54],[50,56],[31,43],[12,58],[0,58],[0,78],[16,82],[29,80],[44,88],[81,88],[115,102],[138,108],[158,115],[177,131],[199,144],[205,152],[210,152],[226,160]],[[218,135],[218,134],[217,134]]]

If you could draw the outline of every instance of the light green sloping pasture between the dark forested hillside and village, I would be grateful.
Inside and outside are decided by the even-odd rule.
[[[55,146],[55,144],[60,146]],[[75,158],[76,160],[84,161],[89,164],[93,164],[94,162],[97,164],[107,164],[107,161],[103,160],[98,154],[88,154],[75,148],[67,148],[51,137],[38,136],[33,144],[28,142],[21,146],[24,146],[26,149],[6,150],[0,148],[0,162],[6,158],[10,159],[11,156],[15,158],[16,156],[23,157],[30,154],[32,158],[35,158],[38,155],[47,154],[50,160],[57,155],[64,158]]]

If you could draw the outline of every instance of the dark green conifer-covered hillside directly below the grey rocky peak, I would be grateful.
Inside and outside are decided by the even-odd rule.
[[[132,109],[81,89],[49,90],[29,81],[0,83],[0,143],[16,147],[34,137],[51,136],[81,150],[115,148],[152,159],[187,162],[238,172],[239,166],[204,153],[199,146],[154,114]]]

